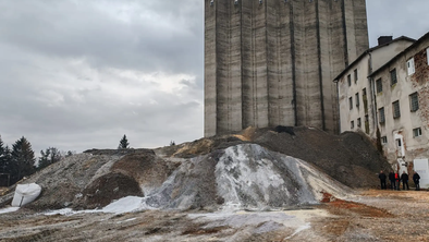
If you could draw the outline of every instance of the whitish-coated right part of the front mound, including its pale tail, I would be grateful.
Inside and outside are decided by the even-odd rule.
[[[341,197],[350,192],[309,164],[255,144],[226,148],[216,181],[224,209],[317,204],[323,192]]]

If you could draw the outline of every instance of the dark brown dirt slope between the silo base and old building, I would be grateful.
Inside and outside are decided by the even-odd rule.
[[[293,156],[319,167],[351,187],[375,187],[377,173],[390,165],[371,141],[359,133],[332,135],[311,128],[294,128],[295,135],[262,132],[255,143],[270,150]]]

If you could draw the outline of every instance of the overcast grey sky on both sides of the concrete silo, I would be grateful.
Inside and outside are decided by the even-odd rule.
[[[367,0],[370,46],[419,38],[428,0]],[[0,0],[0,135],[38,155],[204,135],[204,1]]]

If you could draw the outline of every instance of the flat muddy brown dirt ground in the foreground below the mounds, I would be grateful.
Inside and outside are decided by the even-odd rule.
[[[429,192],[361,190],[294,210],[0,214],[0,241],[429,241]]]

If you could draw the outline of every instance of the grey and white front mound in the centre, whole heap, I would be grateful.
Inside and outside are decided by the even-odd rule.
[[[351,193],[303,160],[242,144],[183,162],[145,202],[156,208],[262,209],[317,204],[323,191]]]

